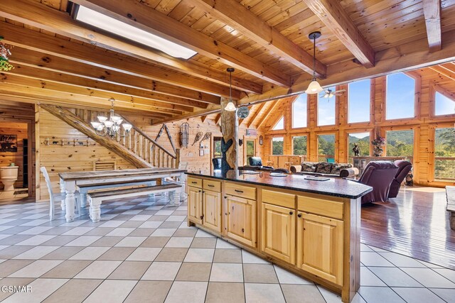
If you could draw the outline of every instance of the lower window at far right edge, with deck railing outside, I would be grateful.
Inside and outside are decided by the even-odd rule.
[[[455,129],[437,128],[434,133],[434,179],[455,180]]]

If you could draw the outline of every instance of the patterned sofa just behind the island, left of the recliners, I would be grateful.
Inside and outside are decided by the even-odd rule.
[[[350,163],[305,161],[301,162],[301,165],[291,165],[291,173],[295,175],[354,178],[358,175],[358,169]]]

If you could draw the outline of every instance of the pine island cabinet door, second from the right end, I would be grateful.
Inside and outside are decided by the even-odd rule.
[[[295,264],[296,221],[294,209],[262,203],[262,242],[264,253]]]

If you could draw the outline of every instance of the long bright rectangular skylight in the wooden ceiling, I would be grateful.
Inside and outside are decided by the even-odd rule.
[[[157,35],[143,31],[140,28],[130,26],[127,23],[111,18],[102,13],[98,13],[92,9],[87,9],[85,6],[79,6],[75,15],[75,20],[101,28],[102,30],[109,31],[115,35],[120,35],[151,48],[161,50],[172,57],[188,60],[193,57],[193,55],[197,54],[194,50],[190,50],[189,48],[185,48],[177,43],[173,43]]]

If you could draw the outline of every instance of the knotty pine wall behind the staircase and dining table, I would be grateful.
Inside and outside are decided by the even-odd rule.
[[[151,138],[156,138],[159,133],[161,125],[151,126],[150,119],[141,116],[127,116],[128,120],[131,121],[135,126],[139,126]],[[74,145],[74,140],[77,142],[86,143],[87,136],[77,131],[75,128],[69,126],[65,122],[56,118],[52,114],[49,114],[44,109],[38,107],[36,127],[38,130],[39,137],[39,149],[37,165],[39,167],[45,166],[48,170],[50,180],[53,184],[54,192],[59,192],[59,172],[70,172],[70,171],[89,171],[93,170],[94,161],[112,161],[115,160],[117,169],[129,169],[135,168],[129,162],[123,160],[118,155],[110,152],[107,148],[95,143],[89,139],[90,146],[86,145]],[[176,148],[180,148],[180,126],[181,123],[189,123],[189,144],[188,148],[181,149],[181,164],[186,165],[187,170],[191,171],[210,171],[211,163],[211,150],[212,141],[204,141],[203,145],[206,145],[210,153],[205,153],[203,156],[199,155],[199,143],[193,145],[196,133],[199,131],[203,134],[207,132],[212,133],[213,136],[221,136],[220,127],[215,125],[213,119],[205,119],[204,122],[200,118],[188,119],[184,121],[176,121],[167,123],[171,133],[173,143]],[[246,126],[240,126],[239,134],[240,138],[245,134]],[[258,135],[259,137],[259,135]],[[61,141],[65,142],[65,145],[61,145]],[[47,145],[49,141],[49,145]],[[53,141],[58,142],[53,144]],[[167,150],[172,152],[171,143],[168,141],[166,131],[161,134],[161,137],[157,141],[160,145],[164,146]],[[69,143],[69,144],[68,144]],[[258,153],[261,155],[261,148],[257,144]],[[243,155],[243,146],[240,147],[239,157]],[[184,166],[183,166],[184,167]],[[40,182],[37,188],[37,200],[48,199],[48,191],[46,189],[45,181],[43,176],[40,174]]]

